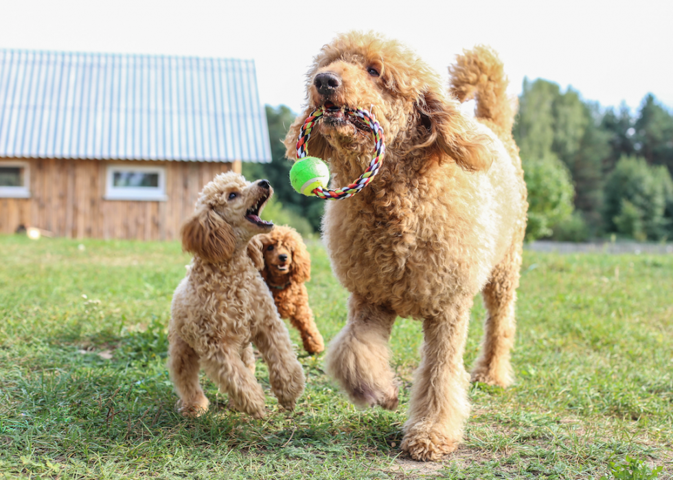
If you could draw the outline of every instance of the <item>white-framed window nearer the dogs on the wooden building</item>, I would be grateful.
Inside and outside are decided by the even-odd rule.
[[[109,165],[106,200],[166,200],[166,171],[163,167]]]

